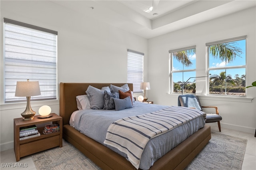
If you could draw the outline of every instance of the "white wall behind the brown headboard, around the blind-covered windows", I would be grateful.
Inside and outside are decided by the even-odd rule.
[[[48,1],[0,1],[1,151],[13,148],[13,119],[21,117],[25,103],[3,101],[3,18],[58,31],[58,84],[60,82],[127,82],[127,49],[145,53],[147,79],[148,40],[83,16]],[[59,115],[58,101],[32,102],[34,111],[50,105]]]

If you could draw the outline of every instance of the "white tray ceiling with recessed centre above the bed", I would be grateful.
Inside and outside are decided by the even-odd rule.
[[[52,0],[52,2],[143,38],[256,6],[256,0]],[[153,10],[145,12],[153,5]],[[157,13],[157,15],[153,15]]]

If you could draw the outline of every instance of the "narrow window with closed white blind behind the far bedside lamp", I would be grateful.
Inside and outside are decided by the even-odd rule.
[[[133,92],[141,93],[140,83],[143,82],[143,56],[144,53],[128,49],[127,83],[133,83]]]

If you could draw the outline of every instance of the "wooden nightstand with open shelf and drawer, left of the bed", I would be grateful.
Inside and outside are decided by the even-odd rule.
[[[62,117],[51,113],[52,117],[41,119],[35,116],[33,120],[23,121],[22,117],[14,120],[14,152],[16,161],[21,157],[34,154],[56,146],[62,147]],[[51,134],[43,134],[44,125],[58,123],[60,131]],[[36,125],[40,136],[20,140],[20,128]]]

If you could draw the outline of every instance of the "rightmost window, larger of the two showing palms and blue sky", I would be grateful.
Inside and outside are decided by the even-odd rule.
[[[209,95],[245,95],[246,36],[206,43]]]

